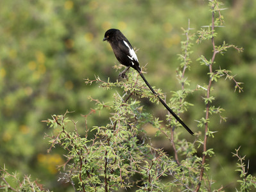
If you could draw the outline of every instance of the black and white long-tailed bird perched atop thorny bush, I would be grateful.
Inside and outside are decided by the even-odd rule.
[[[147,84],[151,92],[157,95],[158,100],[160,100],[160,102],[166,107],[166,109],[171,113],[171,115],[173,115],[176,118],[176,120],[180,122],[180,124],[182,124],[182,126],[185,129],[187,129],[187,131],[190,134],[193,135],[194,133],[191,131],[191,129],[189,129],[189,127],[187,127],[187,125],[173,112],[173,110],[171,110],[169,106],[167,106],[166,102],[164,102],[164,100],[161,99],[161,97],[155,92],[155,90],[153,90],[151,85],[145,79],[145,77],[141,72],[141,67],[139,67],[139,61],[138,61],[137,55],[135,54],[135,51],[133,50],[132,45],[127,40],[127,38],[123,35],[123,33],[121,33],[119,29],[108,29],[108,31],[106,31],[105,36],[103,38],[103,41],[105,40],[107,40],[107,42],[110,43],[117,60],[121,64],[126,66],[126,69],[123,72],[121,72],[121,76],[125,77],[125,73],[130,67],[137,70],[137,72],[139,72],[139,74],[141,75],[142,79],[145,81],[145,83]]]

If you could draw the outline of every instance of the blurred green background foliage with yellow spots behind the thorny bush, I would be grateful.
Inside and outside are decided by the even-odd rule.
[[[118,28],[139,49],[142,66],[147,65],[149,83],[171,97],[171,90],[180,89],[176,80],[179,65],[182,27],[191,21],[192,33],[210,24],[208,1],[203,0],[140,0],[140,1],[0,1],[0,166],[10,172],[27,174],[40,179],[48,189],[71,190],[68,184],[57,182],[57,164],[64,163],[62,152],[46,150],[45,132],[51,132],[41,120],[53,114],[69,114],[83,126],[81,114],[94,108],[87,97],[107,102],[117,90],[103,91],[97,84],[86,85],[83,79],[99,76],[103,81],[116,81],[119,72],[113,68],[117,60],[110,45],[102,42],[109,28]],[[219,124],[211,116],[210,129],[218,131],[210,138],[209,148],[216,156],[210,160],[214,187],[221,185],[234,191],[237,178],[231,152],[241,146],[241,155],[250,159],[250,173],[256,172],[256,1],[225,1],[222,14],[225,28],[217,28],[216,44],[244,47],[243,53],[230,49],[216,58],[214,69],[232,70],[237,81],[243,82],[244,92],[234,92],[234,82],[225,79],[214,83],[214,105],[225,109],[227,122]],[[210,42],[194,44],[191,70],[186,76],[191,88],[207,83],[208,68],[196,59],[212,54]],[[119,90],[120,91],[120,90]],[[120,91],[121,92],[121,91]],[[196,122],[205,116],[202,92],[189,95],[194,104],[183,115],[193,131],[201,131]],[[144,102],[154,115],[164,119],[162,106]],[[95,114],[89,125],[105,124],[108,114]],[[81,130],[81,132],[83,132]],[[185,131],[184,131],[185,132]],[[182,134],[193,140],[189,134]],[[160,142],[160,141],[159,141]],[[164,143],[158,145],[165,146]],[[167,146],[169,147],[169,145]],[[168,150],[166,148],[166,150]]]

